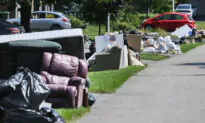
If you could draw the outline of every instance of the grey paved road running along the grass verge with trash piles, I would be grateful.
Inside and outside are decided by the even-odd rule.
[[[205,45],[151,63],[77,123],[204,123]]]

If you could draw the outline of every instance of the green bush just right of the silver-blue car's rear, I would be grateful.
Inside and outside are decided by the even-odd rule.
[[[70,19],[72,28],[80,28],[84,26],[84,21],[80,20],[79,18],[76,18],[74,16],[68,16],[67,17]]]

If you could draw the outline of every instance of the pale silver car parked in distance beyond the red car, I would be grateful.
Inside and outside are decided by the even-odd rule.
[[[197,8],[192,4],[179,4],[176,8],[177,12],[188,14],[195,18],[198,14]]]

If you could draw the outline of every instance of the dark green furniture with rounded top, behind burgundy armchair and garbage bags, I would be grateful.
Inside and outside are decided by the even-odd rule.
[[[19,40],[0,43],[0,77],[8,78],[18,67],[40,72],[43,52],[59,52],[61,45],[45,40]]]

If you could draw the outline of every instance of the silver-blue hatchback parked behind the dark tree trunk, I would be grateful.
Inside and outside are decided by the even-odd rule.
[[[8,19],[7,21],[20,25],[20,18]],[[36,11],[31,13],[31,31],[46,31],[58,29],[70,29],[71,23],[63,13],[51,11]]]

